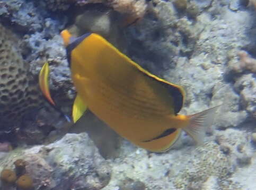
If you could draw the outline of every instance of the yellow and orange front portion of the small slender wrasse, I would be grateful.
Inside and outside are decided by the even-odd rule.
[[[40,70],[39,73],[39,87],[43,93],[43,96],[51,103],[51,105],[55,106],[54,100],[51,98],[50,90],[49,90],[49,64],[46,62]]]

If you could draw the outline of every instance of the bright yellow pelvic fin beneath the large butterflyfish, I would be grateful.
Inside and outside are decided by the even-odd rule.
[[[85,110],[87,109],[87,106],[84,104],[84,101],[82,101],[79,94],[76,95],[74,104],[73,104],[73,111],[72,111],[72,117],[74,123],[81,118]]]

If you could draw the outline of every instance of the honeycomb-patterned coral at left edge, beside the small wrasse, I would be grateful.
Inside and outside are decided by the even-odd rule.
[[[0,25],[0,130],[11,130],[28,110],[42,103],[16,43],[14,34]]]

